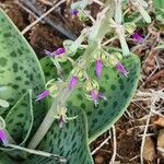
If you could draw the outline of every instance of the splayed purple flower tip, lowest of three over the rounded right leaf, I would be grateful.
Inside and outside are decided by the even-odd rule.
[[[98,99],[99,99],[99,98],[102,98],[102,99],[104,99],[104,101],[107,99],[107,98],[104,96],[103,93],[101,93],[101,92],[98,92],[98,91],[96,91],[96,90],[92,90],[92,91],[90,92],[90,95],[91,95],[92,99],[94,101],[95,106],[98,105]]]

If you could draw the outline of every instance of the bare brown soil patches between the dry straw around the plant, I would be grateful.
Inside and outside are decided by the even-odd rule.
[[[47,11],[52,0],[36,0],[35,7],[39,8],[43,12]],[[21,3],[20,3],[21,4]],[[22,5],[17,4],[13,0],[0,0],[0,7],[3,8],[12,21],[16,24],[20,31],[23,31],[27,25],[30,25],[37,15],[32,15]],[[58,25],[69,30],[68,33],[78,36],[81,30],[85,26],[77,17],[69,14],[70,2],[68,0],[67,4],[61,5],[58,10],[51,12],[47,17]],[[27,7],[25,7],[27,8]],[[98,12],[98,5],[89,7],[92,15],[95,17]],[[91,22],[86,23],[87,25]],[[155,28],[155,30],[154,30]],[[164,87],[164,51],[154,49],[159,44],[159,40],[164,38],[164,33],[159,30],[156,32],[156,22],[153,21],[148,28],[141,28],[143,34],[150,34],[149,39],[145,44],[140,45],[134,52],[140,57],[142,63],[141,80],[138,86],[140,91],[162,90]],[[38,57],[43,56],[44,49],[54,50],[56,47],[60,47],[62,42],[68,38],[65,34],[59,33],[55,30],[47,21],[42,21],[32,27],[26,34],[26,39],[30,42]],[[112,44],[117,44],[118,40]],[[136,46],[136,43],[129,40],[129,45]],[[131,48],[132,48],[131,46]],[[164,106],[162,99],[159,104],[161,107]],[[128,107],[128,112],[115,124],[116,128],[116,140],[117,140],[117,155],[116,164],[139,164],[140,163],[140,149],[142,142],[142,134],[145,126],[147,118],[149,114],[149,102],[137,101],[132,102]],[[151,133],[152,144],[150,147],[156,147],[157,133],[164,127],[155,126],[154,120],[157,120],[159,116],[151,118],[149,133]],[[91,150],[96,149],[108,136],[109,131],[102,134],[93,143],[91,143]],[[164,138],[163,138],[164,140]],[[108,164],[110,162],[113,150],[114,150],[113,139],[103,145],[94,155],[95,164]],[[156,150],[154,152],[154,157],[152,161],[148,161],[147,155],[144,156],[145,163],[163,163],[164,160],[162,154]]]

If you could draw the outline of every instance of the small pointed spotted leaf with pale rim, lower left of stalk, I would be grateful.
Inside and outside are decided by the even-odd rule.
[[[27,91],[23,97],[13,106],[5,117],[8,132],[19,145],[24,145],[33,126],[32,91]],[[26,157],[26,154],[13,149],[8,154],[13,157]],[[12,150],[12,151],[9,151]]]

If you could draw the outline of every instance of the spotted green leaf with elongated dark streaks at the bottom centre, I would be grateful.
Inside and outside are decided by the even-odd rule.
[[[68,120],[62,128],[54,121],[51,128],[37,148],[38,150],[58,154],[68,160],[69,164],[92,164],[87,145],[86,118],[82,109],[68,106],[68,117],[78,116]],[[33,155],[26,164],[58,164],[58,160]]]

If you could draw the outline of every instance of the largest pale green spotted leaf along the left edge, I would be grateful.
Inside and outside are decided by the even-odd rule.
[[[9,102],[10,107],[1,109],[7,116],[23,94],[32,89],[33,101],[43,92],[45,79],[38,59],[8,15],[0,9],[0,98]],[[36,130],[45,113],[45,101],[34,104],[34,126]],[[42,108],[40,108],[42,106]]]

